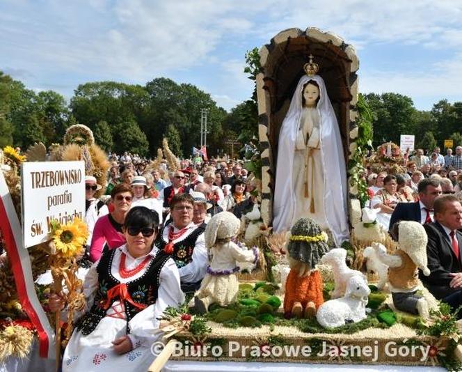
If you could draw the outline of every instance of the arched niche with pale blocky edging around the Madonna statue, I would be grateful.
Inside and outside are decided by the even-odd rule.
[[[260,49],[262,72],[257,75],[259,138],[262,145],[262,218],[273,219],[273,191],[278,157],[278,137],[282,120],[308,56],[320,65],[342,135],[346,163],[349,146],[357,136],[353,131],[358,102],[358,57],[355,49],[332,33],[315,28],[281,31]]]

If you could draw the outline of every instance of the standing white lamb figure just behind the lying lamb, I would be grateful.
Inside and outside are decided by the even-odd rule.
[[[334,248],[330,249],[321,258],[321,263],[330,265],[334,274],[335,288],[330,294],[330,298],[342,297],[345,293],[346,282],[353,276],[360,276],[366,279],[365,275],[358,271],[350,269],[346,266],[346,249]]]

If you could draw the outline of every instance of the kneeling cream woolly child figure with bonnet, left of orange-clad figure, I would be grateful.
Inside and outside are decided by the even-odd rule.
[[[210,219],[205,228],[205,245],[211,257],[207,274],[196,293],[195,307],[200,313],[206,313],[210,304],[216,302],[221,307],[237,300],[239,282],[236,273],[239,263],[250,262],[256,265],[258,250],[241,249],[232,242],[239,233],[240,220],[231,212],[220,212]]]

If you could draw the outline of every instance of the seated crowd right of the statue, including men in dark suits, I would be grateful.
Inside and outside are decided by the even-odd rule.
[[[378,210],[377,222],[392,237],[401,221],[424,226],[430,274],[420,272],[420,279],[455,311],[462,305],[462,147],[456,148],[456,155],[448,149],[445,157],[439,150],[430,157],[416,150],[406,162],[406,173],[368,169],[369,207]]]

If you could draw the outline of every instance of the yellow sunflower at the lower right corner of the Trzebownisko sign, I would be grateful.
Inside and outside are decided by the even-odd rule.
[[[80,254],[87,237],[86,225],[78,218],[75,218],[72,224],[56,228],[52,236],[56,250],[66,257]]]

